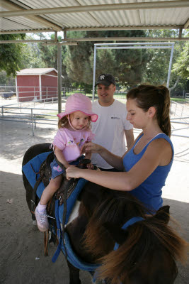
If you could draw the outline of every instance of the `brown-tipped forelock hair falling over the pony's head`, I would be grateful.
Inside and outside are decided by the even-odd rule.
[[[144,259],[146,262],[161,259],[167,269],[170,269],[169,261],[185,263],[188,243],[164,221],[149,217],[128,227],[127,231],[127,239],[119,249],[101,258],[98,278],[109,279],[111,284],[130,283],[130,275],[142,267]]]

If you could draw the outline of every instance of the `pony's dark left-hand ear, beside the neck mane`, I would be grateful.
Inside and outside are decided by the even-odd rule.
[[[127,239],[128,232],[121,229],[119,226],[112,224],[111,222],[105,222],[103,227],[109,232],[116,243],[123,244]]]

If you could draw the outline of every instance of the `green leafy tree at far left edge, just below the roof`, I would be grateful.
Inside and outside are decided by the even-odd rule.
[[[24,39],[24,34],[0,35],[0,40]],[[21,69],[22,44],[6,43],[0,45],[0,70],[6,71],[6,75],[16,76],[16,71]]]

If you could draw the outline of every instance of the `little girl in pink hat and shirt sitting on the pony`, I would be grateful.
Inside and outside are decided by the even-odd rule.
[[[81,156],[81,147],[84,143],[93,139],[94,134],[91,132],[91,121],[96,122],[97,114],[93,114],[91,100],[84,94],[73,94],[67,99],[65,111],[59,116],[57,134],[52,143],[57,160],[64,165],[65,168],[69,163]],[[87,159],[91,158],[91,154],[86,154]],[[55,159],[50,164],[52,168],[52,178],[49,185],[45,187],[38,206],[35,208],[35,218],[40,231],[48,229],[48,221],[46,214],[47,202],[52,195],[59,189],[62,182],[62,168],[59,167]],[[88,168],[92,168],[88,164]]]

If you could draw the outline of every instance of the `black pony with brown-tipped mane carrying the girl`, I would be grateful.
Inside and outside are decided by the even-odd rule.
[[[32,146],[23,165],[49,150],[50,143]],[[30,208],[33,188],[23,173],[26,200]],[[185,261],[187,243],[170,226],[169,207],[146,217],[145,209],[129,192],[108,190],[88,182],[78,198],[79,212],[66,231],[74,252],[88,263],[101,263],[97,280],[108,284],[172,284],[178,273],[176,260]],[[38,200],[39,201],[39,200]],[[126,230],[122,225],[142,217]],[[115,242],[120,246],[113,250]],[[67,262],[69,283],[81,284],[79,269]]]

